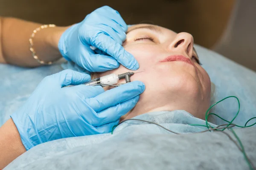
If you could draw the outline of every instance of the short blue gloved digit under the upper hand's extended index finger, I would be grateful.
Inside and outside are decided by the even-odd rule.
[[[111,56],[105,56],[100,54],[91,54],[88,57],[86,63],[86,69],[90,72],[103,72],[119,68],[119,62],[117,62]]]

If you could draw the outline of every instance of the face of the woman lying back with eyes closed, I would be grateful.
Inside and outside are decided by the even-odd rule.
[[[192,35],[185,32],[177,34],[148,24],[128,28],[123,47],[140,64],[140,68],[134,72],[143,71],[131,76],[131,81],[145,83],[145,91],[137,104],[146,108],[142,113],[185,110],[204,119],[210,102],[211,83],[207,72],[199,64],[193,45]],[[99,76],[128,71],[130,70],[120,65],[119,68]],[[119,83],[123,82],[125,80],[120,80]],[[132,115],[128,118],[131,117]]]

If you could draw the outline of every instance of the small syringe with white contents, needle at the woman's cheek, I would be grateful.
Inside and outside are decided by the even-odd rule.
[[[140,71],[140,72],[143,72],[143,71]],[[137,72],[137,73],[140,73],[140,72]],[[85,82],[84,85],[115,85],[118,83],[118,80],[119,79],[125,79],[126,82],[131,82],[131,79],[130,77],[132,75],[134,75],[136,73],[134,72],[126,72],[126,73],[123,73],[123,74],[109,74],[107,76],[103,76],[103,77],[99,77],[99,78],[96,78],[96,79],[92,79],[88,82]]]

